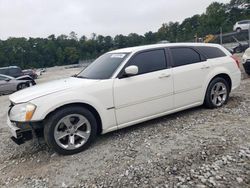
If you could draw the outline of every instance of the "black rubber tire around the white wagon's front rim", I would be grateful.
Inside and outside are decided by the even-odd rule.
[[[58,122],[62,120],[64,117],[69,116],[71,114],[79,114],[79,115],[84,116],[90,123],[91,131],[90,131],[89,138],[81,147],[68,150],[68,149],[61,147],[57,143],[54,137],[54,131],[56,129],[56,125],[58,124]],[[72,154],[76,154],[87,149],[90,146],[90,144],[95,140],[96,135],[97,135],[96,118],[88,109],[84,107],[68,106],[68,107],[62,108],[54,112],[45,120],[44,139],[50,148],[52,148],[54,151],[62,155],[72,155]]]

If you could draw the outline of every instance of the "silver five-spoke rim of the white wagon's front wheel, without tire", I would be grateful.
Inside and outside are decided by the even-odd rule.
[[[55,126],[56,143],[66,150],[83,146],[90,137],[91,125],[81,114],[70,114],[63,117]]]

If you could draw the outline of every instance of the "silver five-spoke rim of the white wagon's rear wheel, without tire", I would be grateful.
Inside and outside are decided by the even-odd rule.
[[[223,105],[227,99],[227,95],[226,85],[222,82],[217,82],[211,90],[212,103],[217,107]]]

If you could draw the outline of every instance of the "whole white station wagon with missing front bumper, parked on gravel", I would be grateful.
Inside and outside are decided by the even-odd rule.
[[[108,52],[74,77],[12,94],[12,140],[44,136],[60,154],[98,134],[204,104],[217,108],[240,85],[239,62],[222,46],[157,44]]]

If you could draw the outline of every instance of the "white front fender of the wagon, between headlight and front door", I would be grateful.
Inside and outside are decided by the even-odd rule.
[[[112,90],[110,89],[110,92]],[[67,90],[60,93],[51,94],[50,97],[40,97],[30,101],[38,106],[32,121],[42,121],[46,116],[56,109],[73,103],[82,103],[92,106],[99,114],[103,130],[117,126],[115,119],[115,110],[108,109],[113,105],[112,93],[102,93],[102,96],[93,96],[88,93],[81,93],[75,90]],[[42,108],[39,108],[41,107]]]

